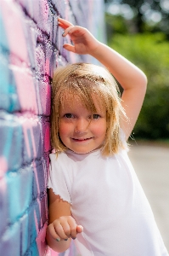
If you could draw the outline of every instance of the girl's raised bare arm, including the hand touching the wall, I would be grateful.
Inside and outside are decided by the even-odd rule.
[[[147,86],[145,74],[130,61],[118,54],[114,49],[100,43],[93,35],[81,26],[73,26],[67,20],[59,18],[59,26],[65,29],[73,45],[64,44],[64,48],[77,54],[89,54],[107,67],[110,73],[121,84],[123,93],[121,105],[127,113],[129,121],[121,119],[121,128],[128,138],[138,119],[138,114],[144,102]]]

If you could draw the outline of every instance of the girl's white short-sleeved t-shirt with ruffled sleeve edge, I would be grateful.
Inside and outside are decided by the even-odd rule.
[[[48,188],[83,226],[75,240],[82,256],[168,256],[126,150],[110,157],[67,150],[50,160]]]

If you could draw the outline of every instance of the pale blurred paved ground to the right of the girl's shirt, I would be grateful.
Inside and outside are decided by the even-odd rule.
[[[169,148],[133,145],[129,157],[169,252]]]

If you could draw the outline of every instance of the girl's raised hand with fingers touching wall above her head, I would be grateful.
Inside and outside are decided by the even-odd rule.
[[[64,44],[64,48],[75,52],[79,55],[93,54],[99,46],[99,41],[93,37],[93,35],[82,26],[73,26],[69,21],[58,18],[59,26],[61,26],[65,32],[63,37],[67,34],[70,35],[70,39],[73,42],[71,44]]]

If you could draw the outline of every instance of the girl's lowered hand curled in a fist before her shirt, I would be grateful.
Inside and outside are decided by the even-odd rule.
[[[77,225],[71,216],[62,216],[48,225],[48,232],[56,241],[67,241],[68,238],[76,239],[78,233],[82,233],[83,227]]]

